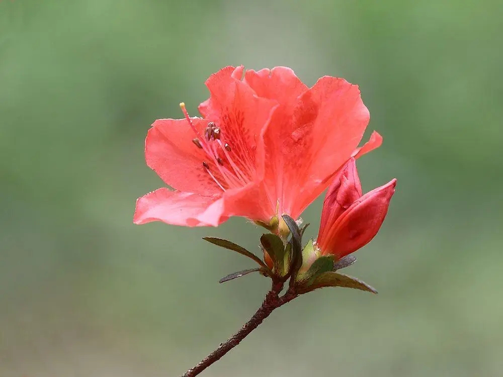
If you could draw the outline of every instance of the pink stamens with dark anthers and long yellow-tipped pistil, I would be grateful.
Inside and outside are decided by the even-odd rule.
[[[218,187],[225,191],[249,183],[253,176],[254,164],[242,158],[243,154],[239,153],[238,145],[226,140],[225,133],[214,122],[208,122],[203,137],[194,126],[183,102],[180,108],[197,136],[192,142],[197,148],[202,149],[207,157],[207,160],[203,161],[203,168]]]

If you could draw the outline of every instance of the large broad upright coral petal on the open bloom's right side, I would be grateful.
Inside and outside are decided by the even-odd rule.
[[[277,187],[280,211],[297,218],[351,157],[369,112],[357,85],[325,76],[299,97],[289,123],[281,117],[275,112],[265,130],[265,176]]]

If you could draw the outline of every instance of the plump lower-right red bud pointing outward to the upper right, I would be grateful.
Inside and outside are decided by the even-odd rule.
[[[339,259],[369,243],[384,221],[395,185],[396,179],[392,179],[356,201],[324,236],[322,253]]]

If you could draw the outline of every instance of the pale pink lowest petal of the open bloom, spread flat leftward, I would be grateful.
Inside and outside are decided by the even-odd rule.
[[[219,195],[203,196],[166,188],[157,189],[136,201],[135,224],[162,221],[181,226],[217,226],[228,219],[223,215]]]

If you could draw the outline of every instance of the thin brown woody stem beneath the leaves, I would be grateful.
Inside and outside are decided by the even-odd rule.
[[[197,365],[187,370],[181,377],[194,377],[201,373],[208,366],[219,360],[223,355],[237,346],[250,332],[255,330],[264,321],[272,311],[280,306],[292,301],[297,297],[297,294],[287,291],[283,296],[279,297],[279,293],[283,289],[283,283],[273,283],[271,291],[266,295],[262,306],[254,314],[251,319],[246,322],[241,329],[232,335],[225,342],[221,343],[217,349],[211,352],[208,356],[202,359]]]

